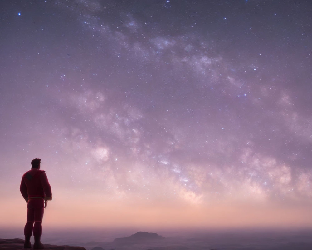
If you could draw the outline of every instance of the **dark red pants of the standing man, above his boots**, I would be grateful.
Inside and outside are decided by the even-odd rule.
[[[24,228],[24,235],[40,236],[42,233],[42,218],[44,211],[43,199],[29,199],[27,202],[27,222]],[[35,225],[33,225],[35,222]]]

